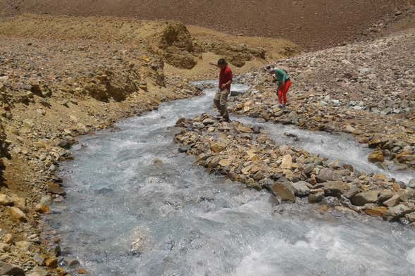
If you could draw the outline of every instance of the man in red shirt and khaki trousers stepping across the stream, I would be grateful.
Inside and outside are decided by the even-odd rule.
[[[216,108],[218,108],[223,118],[229,122],[228,106],[226,103],[230,93],[230,84],[232,84],[233,79],[232,70],[230,70],[228,63],[223,58],[218,60],[218,64],[209,64],[221,69],[219,72],[219,89],[215,94],[213,103],[215,103]]]

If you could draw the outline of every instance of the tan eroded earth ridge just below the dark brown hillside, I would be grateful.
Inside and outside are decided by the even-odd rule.
[[[175,68],[191,69],[202,54],[212,52],[227,58],[230,63],[242,67],[254,58],[266,60],[266,49],[242,43],[225,42],[192,35],[187,27],[174,21],[142,21],[131,18],[77,18],[47,15],[21,15],[3,20],[0,35],[39,39],[93,39],[102,42],[118,42],[145,46],[151,54],[163,57],[163,61]],[[298,54],[297,46],[276,39],[279,49],[290,49],[284,56]],[[268,46],[268,49],[270,48]],[[273,51],[268,54],[271,57]],[[274,55],[275,56],[275,55]]]

